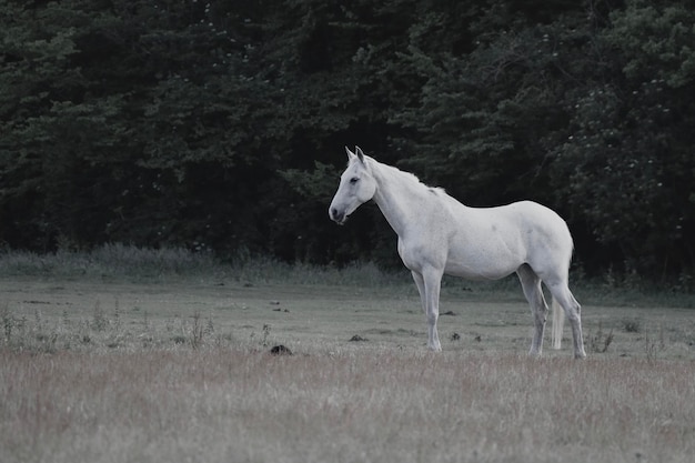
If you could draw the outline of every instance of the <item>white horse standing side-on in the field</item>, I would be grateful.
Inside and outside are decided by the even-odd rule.
[[[560,349],[564,316],[572,324],[574,356],[583,359],[581,306],[567,286],[573,242],[564,220],[531,201],[497,208],[469,208],[444,190],[411,173],[376,162],[348,148],[349,164],[329,208],[339,224],[373,199],[399,235],[399,254],[412,272],[429,326],[427,346],[441,351],[436,321],[444,273],[497,280],[516,272],[531,304],[535,332],[530,355],[541,355],[547,304],[541,283],[553,295],[553,344]]]

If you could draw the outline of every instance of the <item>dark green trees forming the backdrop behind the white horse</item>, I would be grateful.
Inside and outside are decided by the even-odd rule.
[[[0,242],[397,262],[343,145],[557,210],[585,272],[693,284],[695,9],[645,0],[0,0]]]

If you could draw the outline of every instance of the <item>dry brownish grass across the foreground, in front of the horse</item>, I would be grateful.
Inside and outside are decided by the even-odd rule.
[[[688,362],[0,353],[3,462],[686,462]]]

